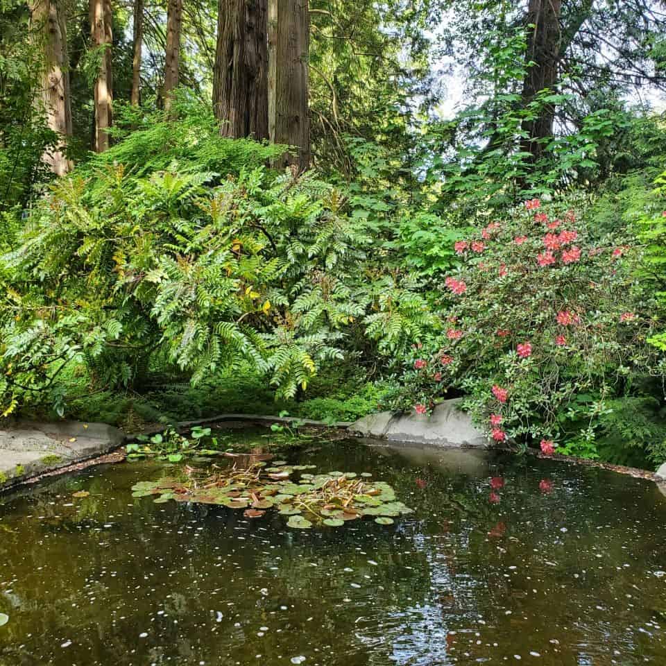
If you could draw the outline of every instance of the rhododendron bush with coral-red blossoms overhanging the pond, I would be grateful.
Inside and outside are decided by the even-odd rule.
[[[462,393],[493,440],[545,454],[574,423],[593,438],[604,400],[662,368],[646,343],[654,303],[635,280],[638,249],[592,238],[578,212],[533,199],[456,242],[443,332],[413,346],[403,407],[425,413]]]

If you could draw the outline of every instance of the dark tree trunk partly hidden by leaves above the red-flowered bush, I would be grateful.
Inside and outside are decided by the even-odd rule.
[[[561,54],[562,0],[529,0],[527,24],[533,24],[527,39],[527,62],[534,64],[527,69],[523,83],[522,103],[527,105],[538,92],[552,89],[557,83],[558,62]],[[534,161],[542,157],[544,141],[553,134],[555,108],[544,105],[538,116],[524,120],[522,129],[527,137],[522,139],[522,150],[532,154]]]

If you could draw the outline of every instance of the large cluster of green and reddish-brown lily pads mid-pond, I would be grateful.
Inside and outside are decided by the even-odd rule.
[[[395,491],[383,481],[373,481],[364,472],[313,474],[314,465],[288,465],[277,461],[266,466],[248,456],[246,466],[237,464],[214,474],[187,468],[182,479],[139,481],[133,497],[157,495],[158,504],[174,500],[198,504],[219,504],[244,509],[246,518],[262,518],[267,509],[277,509],[288,518],[287,527],[309,529],[323,524],[341,527],[345,522],[373,516],[382,525],[411,513],[395,498]]]

